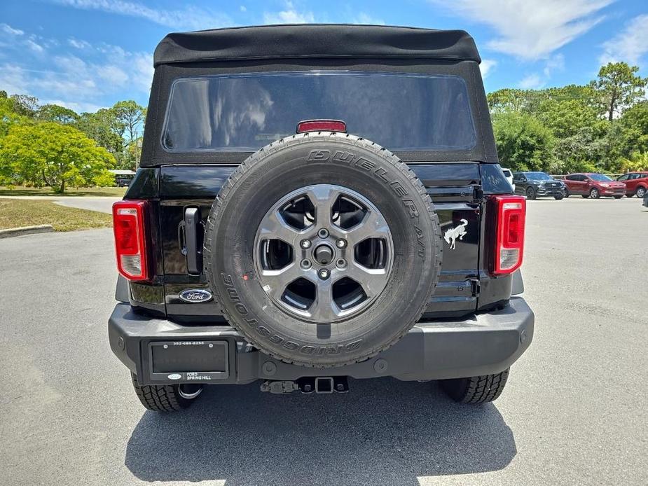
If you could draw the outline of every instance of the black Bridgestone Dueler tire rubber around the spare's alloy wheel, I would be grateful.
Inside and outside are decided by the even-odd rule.
[[[385,289],[366,310],[333,324],[301,320],[271,300],[256,278],[254,239],[284,195],[318,183],[366,197],[394,241]],[[287,363],[326,368],[364,361],[409,331],[429,303],[441,268],[439,218],[421,181],[390,151],[334,132],[274,142],[223,185],[205,233],[205,272],[229,323],[261,351]]]

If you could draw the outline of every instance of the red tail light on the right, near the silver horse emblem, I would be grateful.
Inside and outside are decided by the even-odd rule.
[[[523,196],[495,195],[495,252],[492,273],[506,275],[522,265],[527,202]]]

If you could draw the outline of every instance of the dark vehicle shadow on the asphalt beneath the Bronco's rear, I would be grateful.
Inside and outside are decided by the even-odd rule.
[[[496,471],[516,454],[495,405],[459,405],[436,384],[352,380],[350,393],[277,396],[207,387],[177,414],[146,412],[125,465],[140,480],[232,485],[418,485]]]

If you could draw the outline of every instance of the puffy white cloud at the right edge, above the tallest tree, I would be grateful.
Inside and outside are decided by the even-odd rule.
[[[603,43],[603,53],[599,60],[601,64],[619,61],[639,64],[646,53],[648,53],[648,14],[633,18],[622,32]]]

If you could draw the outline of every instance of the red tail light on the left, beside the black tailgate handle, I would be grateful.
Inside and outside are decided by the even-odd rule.
[[[146,207],[146,201],[118,201],[113,204],[117,269],[129,280],[149,278],[144,225]]]

